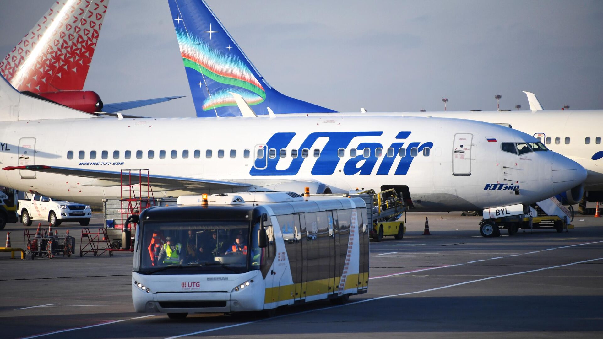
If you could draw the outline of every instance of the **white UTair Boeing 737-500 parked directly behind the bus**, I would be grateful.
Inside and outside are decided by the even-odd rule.
[[[531,204],[586,179],[532,136],[461,119],[99,119],[3,78],[0,121],[0,185],[96,205],[121,197],[123,168],[149,168],[164,195],[396,188],[417,211]]]

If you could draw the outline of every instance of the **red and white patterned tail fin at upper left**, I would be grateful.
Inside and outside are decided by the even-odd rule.
[[[4,60],[0,74],[19,91],[81,90],[109,0],[58,0]]]

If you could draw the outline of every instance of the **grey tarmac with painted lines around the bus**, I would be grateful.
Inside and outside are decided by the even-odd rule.
[[[432,235],[422,235],[429,217]],[[2,338],[600,338],[603,335],[603,218],[577,215],[569,232],[479,235],[481,217],[409,213],[400,241],[371,242],[367,294],[254,314],[133,312],[131,253],[11,260],[0,253]],[[48,223],[46,227],[48,227]],[[89,228],[102,226],[94,215]],[[35,232],[36,227],[32,226]],[[11,232],[22,246],[21,224]]]

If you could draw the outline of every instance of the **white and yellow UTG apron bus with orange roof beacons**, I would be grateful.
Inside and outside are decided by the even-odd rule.
[[[136,312],[271,315],[279,306],[345,303],[367,292],[369,221],[362,198],[244,192],[205,201],[184,196],[128,218],[138,222]]]

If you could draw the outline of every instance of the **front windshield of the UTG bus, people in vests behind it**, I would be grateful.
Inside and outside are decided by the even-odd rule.
[[[236,221],[187,223],[148,222],[141,227],[140,264],[143,274],[243,273],[259,268],[257,237],[250,224]],[[161,272],[161,273],[160,273]]]

